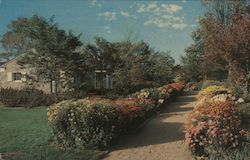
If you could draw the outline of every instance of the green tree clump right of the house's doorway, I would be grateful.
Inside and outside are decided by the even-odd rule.
[[[117,93],[126,95],[172,81],[174,59],[168,52],[155,52],[145,42],[125,41],[114,46],[120,62],[113,72],[114,91]]]

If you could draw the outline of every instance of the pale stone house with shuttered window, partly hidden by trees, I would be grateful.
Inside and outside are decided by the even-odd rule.
[[[46,93],[51,92],[50,83],[30,81],[28,78],[30,74],[32,74],[31,68],[18,65],[16,59],[10,60],[0,66],[0,87],[20,89],[33,86]],[[113,88],[112,77],[108,75],[106,71],[101,72],[100,70],[95,70],[90,77],[89,86],[92,89]],[[59,89],[59,92],[60,91],[63,91],[63,89]],[[55,90],[52,89],[52,92],[55,92]]]

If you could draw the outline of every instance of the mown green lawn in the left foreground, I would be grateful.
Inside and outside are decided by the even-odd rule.
[[[65,150],[49,144],[46,108],[0,108],[0,153],[4,160],[97,160],[103,152]]]

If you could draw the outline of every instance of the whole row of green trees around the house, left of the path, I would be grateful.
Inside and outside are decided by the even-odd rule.
[[[169,51],[157,52],[144,41],[130,38],[109,42],[95,37],[95,43],[83,43],[81,34],[61,29],[54,17],[34,15],[18,18],[1,37],[2,60],[17,58],[18,64],[33,68],[33,81],[63,85],[81,93],[88,89],[89,75],[95,69],[114,79],[114,91],[128,94],[134,90],[162,85],[173,80],[174,59]],[[57,92],[57,89],[56,89]]]

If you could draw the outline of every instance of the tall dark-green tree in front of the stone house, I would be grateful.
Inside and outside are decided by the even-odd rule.
[[[67,58],[81,45],[79,36],[59,29],[54,17],[47,20],[38,15],[18,18],[11,22],[10,29],[2,39],[8,56],[21,55],[18,63],[33,68],[33,80],[49,82],[51,92],[57,93]]]

